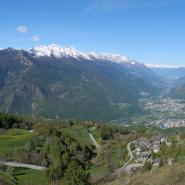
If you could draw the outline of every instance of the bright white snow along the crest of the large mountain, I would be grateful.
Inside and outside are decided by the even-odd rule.
[[[73,57],[76,59],[84,58],[86,60],[109,61],[119,64],[127,63],[131,65],[138,63],[137,61],[130,60],[127,56],[110,53],[83,53],[74,47],[62,47],[56,44],[51,44],[48,46],[36,46],[35,48],[32,48],[30,52],[37,57]]]

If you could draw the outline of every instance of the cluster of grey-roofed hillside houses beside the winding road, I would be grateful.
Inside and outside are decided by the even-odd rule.
[[[146,160],[148,160],[152,163],[153,167],[159,167],[161,159],[154,158],[153,154],[156,154],[160,151],[161,144],[163,142],[165,142],[168,146],[172,145],[172,141],[170,139],[167,139],[161,135],[154,136],[151,139],[143,137],[133,141],[135,146],[135,162],[144,163]]]

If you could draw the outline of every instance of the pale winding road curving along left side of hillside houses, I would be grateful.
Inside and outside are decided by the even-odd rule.
[[[132,142],[128,143],[128,145],[127,145],[127,151],[128,151],[128,155],[130,156],[130,159],[121,168],[116,170],[116,172],[113,175],[114,177],[120,176],[123,173],[130,173],[133,168],[143,167],[142,163],[131,163],[131,161],[134,159],[134,155],[133,155],[131,148],[130,148],[131,144],[132,144]],[[131,164],[129,164],[129,163],[131,163]]]

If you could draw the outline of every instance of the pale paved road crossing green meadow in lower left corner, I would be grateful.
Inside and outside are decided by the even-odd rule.
[[[43,166],[24,164],[24,163],[17,163],[17,162],[0,161],[0,165],[12,166],[12,167],[17,167],[17,168],[28,168],[28,169],[39,170],[39,171],[47,169],[46,167],[43,167]]]

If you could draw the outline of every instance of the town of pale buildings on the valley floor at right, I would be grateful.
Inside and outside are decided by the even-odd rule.
[[[185,126],[185,102],[170,97],[141,99],[143,110],[150,114],[146,119],[146,125],[158,128],[177,128]]]

